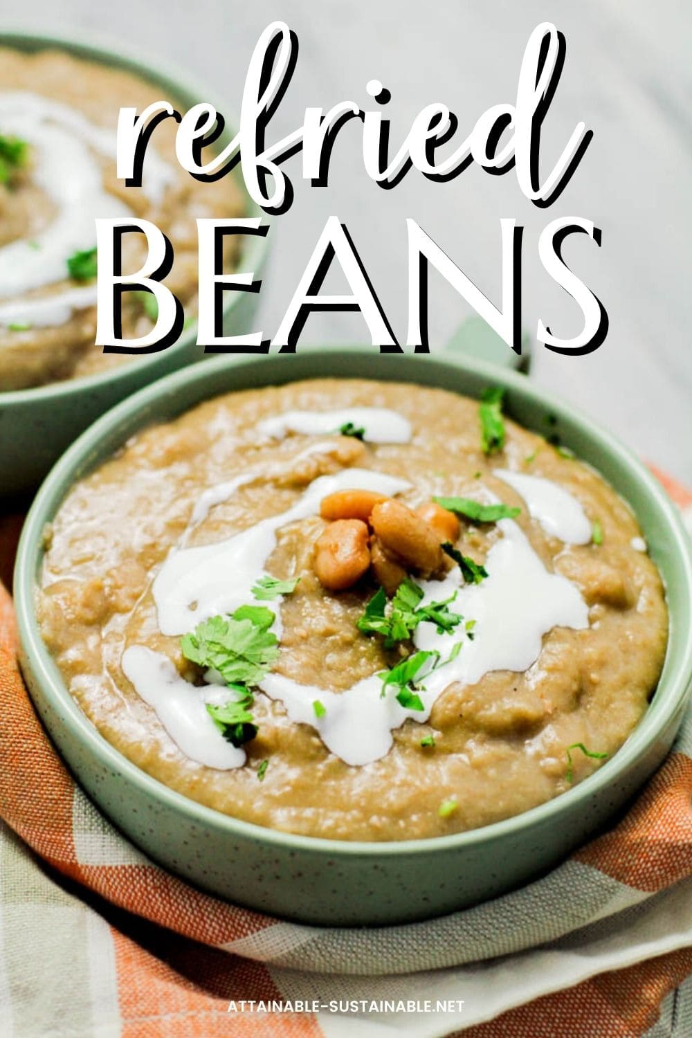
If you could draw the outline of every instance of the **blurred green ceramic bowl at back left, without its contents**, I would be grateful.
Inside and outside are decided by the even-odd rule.
[[[161,71],[148,59],[122,55],[91,42],[75,42],[18,30],[0,31],[0,47],[31,53],[58,49],[78,58],[124,69],[159,85],[162,97],[177,101],[184,109],[200,101],[214,103],[209,91],[190,83],[187,77],[178,77],[176,71]],[[220,111],[227,112],[223,103],[216,104]],[[229,140],[232,133],[226,125],[220,143]],[[247,215],[261,216],[261,210],[245,190],[239,169],[234,169],[231,175],[247,200]],[[256,275],[261,269],[269,239],[255,235],[242,241],[239,270],[254,271]],[[246,332],[252,327],[257,294],[227,292],[225,298],[223,323],[226,334]],[[0,496],[19,494],[36,487],[75,437],[113,404],[162,375],[201,360],[205,355],[202,347],[197,346],[196,337],[196,324],[193,323],[174,346],[161,353],[135,356],[117,370],[54,382],[35,389],[0,392]]]

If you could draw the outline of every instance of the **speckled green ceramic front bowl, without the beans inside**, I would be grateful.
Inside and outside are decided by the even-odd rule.
[[[352,376],[442,386],[477,397],[507,390],[508,413],[545,429],[557,415],[563,441],[630,501],[663,573],[670,640],[652,705],[622,748],[554,800],[471,832],[414,842],[348,843],[275,832],[189,800],[114,749],[70,696],[34,612],[41,531],[72,484],[143,426],[230,389],[296,379]],[[113,408],[84,433],[40,488],[22,535],[16,570],[22,667],[38,712],[87,792],[139,847],[207,891],[260,911],[327,925],[404,923],[493,898],[550,869],[593,835],[659,766],[670,747],[692,677],[692,559],[677,513],[617,440],[524,376],[452,356],[379,355],[322,349],[294,356],[210,361],[162,379]]]

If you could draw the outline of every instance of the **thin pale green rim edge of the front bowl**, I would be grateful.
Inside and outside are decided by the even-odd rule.
[[[315,353],[348,352],[350,356],[373,356],[372,348],[344,348],[344,347],[320,347],[316,350],[301,350],[301,355]],[[279,356],[279,355],[275,355]],[[385,355],[380,354],[379,356]],[[414,360],[414,356],[408,355]],[[123,777],[134,783],[144,795],[164,803],[167,808],[182,812],[191,822],[201,826],[211,826],[217,830],[227,834],[229,837],[240,837],[251,839],[257,842],[274,846],[285,846],[294,849],[313,851],[326,857],[335,857],[342,854],[348,856],[360,855],[366,858],[378,858],[390,855],[418,855],[434,853],[436,851],[462,850],[478,843],[499,840],[516,832],[519,829],[530,829],[546,822],[554,813],[559,815],[560,811],[568,807],[576,808],[578,803],[587,801],[590,796],[599,790],[616,781],[628,768],[645,752],[651,749],[658,736],[666,725],[676,715],[685,705],[687,693],[690,691],[689,680],[692,675],[692,639],[685,638],[684,625],[673,622],[671,616],[670,634],[664,671],[654,698],[642,720],[632,732],[630,737],[618,749],[617,754],[596,772],[579,783],[574,789],[560,793],[559,796],[547,800],[545,803],[531,808],[528,811],[515,815],[511,818],[477,829],[470,829],[464,832],[450,834],[449,836],[432,837],[424,840],[397,840],[391,842],[369,842],[369,841],[335,841],[322,837],[307,837],[297,834],[283,832],[257,825],[252,822],[245,822],[230,815],[216,811],[204,804],[190,799],[182,793],[165,786],[159,780],[147,774],[136,764],[133,764],[127,757],[115,749],[104,736],[98,731],[93,723],[82,712],[75,700],[70,694],[59,671],[50,656],[50,653],[40,637],[38,624],[34,617],[34,594],[36,588],[36,573],[41,559],[41,535],[46,522],[49,522],[59,508],[66,490],[75,480],[75,472],[82,466],[85,459],[93,456],[93,450],[102,436],[116,430],[118,425],[131,417],[133,411],[141,412],[150,402],[157,398],[174,398],[175,389],[185,383],[206,383],[209,393],[206,397],[200,395],[199,402],[204,399],[212,399],[224,391],[215,391],[215,377],[220,372],[225,372],[230,367],[261,364],[267,359],[261,357],[248,358],[247,355],[224,356],[210,360],[204,364],[195,365],[192,368],[183,368],[165,376],[153,385],[140,389],[128,400],[122,401],[111,408],[105,415],[99,418],[72,444],[62,458],[55,464],[49,475],[44,481],[34,502],[27,516],[22,536],[20,539],[17,564],[15,568],[15,595],[17,620],[20,637],[24,653],[30,659],[30,665],[41,686],[44,694],[50,700],[54,709],[62,714],[61,720],[71,730],[72,734],[93,754],[96,760],[111,770],[119,771]],[[418,359],[418,358],[416,358]],[[585,417],[576,411],[572,405],[548,395],[547,391],[530,383],[525,376],[516,372],[500,368],[479,360],[472,360],[466,357],[445,355],[443,358],[426,355],[420,357],[421,363],[434,364],[436,366],[462,368],[470,372],[489,382],[499,382],[508,390],[516,390],[524,398],[528,397],[531,405],[548,408],[559,417],[566,418],[578,426],[585,427],[590,440],[594,445],[613,456],[619,465],[629,470],[629,475],[634,477],[655,503],[658,510],[657,521],[663,521],[667,525],[667,544],[672,546],[679,563],[681,579],[688,589],[688,596],[692,597],[692,551],[690,541],[682,522],[677,509],[664,492],[662,486],[644,468],[639,460],[617,438],[594,425],[590,418]],[[290,363],[290,356],[284,355],[286,363]],[[386,361],[391,362],[391,361]],[[278,379],[274,383],[277,384]],[[294,381],[288,377],[285,381]],[[411,381],[402,378],[399,381]],[[416,383],[413,382],[415,385]],[[452,390],[454,391],[454,390]],[[195,405],[191,405],[195,406]],[[182,412],[181,412],[182,413]],[[144,424],[150,420],[150,416],[144,416]],[[123,439],[133,435],[134,429],[128,428]],[[91,466],[90,466],[91,467]],[[88,470],[88,469],[87,469]],[[80,473],[81,477],[84,472]],[[674,640],[673,640],[674,639]],[[671,654],[675,652],[680,656],[677,661],[671,662]],[[670,668],[674,667],[672,673]],[[666,682],[668,691],[665,695],[659,695],[658,691]]]

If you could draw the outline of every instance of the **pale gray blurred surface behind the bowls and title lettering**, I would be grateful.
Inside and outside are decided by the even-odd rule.
[[[330,214],[347,223],[394,332],[406,337],[406,217],[413,217],[482,291],[499,300],[499,218],[515,216],[524,235],[524,324],[541,315],[574,334],[581,313],[537,261],[537,236],[557,216],[583,216],[603,229],[599,250],[585,236],[565,245],[610,316],[605,344],[587,357],[536,347],[532,377],[608,426],[643,457],[692,483],[692,353],[688,343],[692,206],[692,8],[684,0],[0,0],[0,21],[34,29],[96,33],[123,49],[160,58],[209,84],[240,108],[247,63],[265,26],[286,21],[300,40],[298,67],[269,139],[302,121],[307,105],[344,99],[368,107],[365,83],[391,90],[388,114],[396,140],[424,105],[443,101],[460,119],[460,139],[491,104],[511,102],[526,40],[552,21],[568,44],[562,80],[549,113],[542,155],[554,161],[579,119],[593,140],[562,196],[535,209],[514,172],[489,176],[475,167],[448,184],[415,171],[383,191],[362,168],[359,124],[339,137],[328,188],[300,181],[296,199],[274,222],[271,267],[257,328],[272,336],[297,278]],[[551,161],[552,160],[552,161]],[[338,291],[338,290],[337,290]],[[437,279],[431,291],[430,337],[443,344],[467,311]],[[305,340],[367,342],[354,315],[312,317]]]

